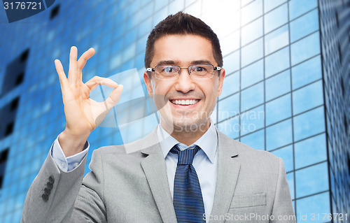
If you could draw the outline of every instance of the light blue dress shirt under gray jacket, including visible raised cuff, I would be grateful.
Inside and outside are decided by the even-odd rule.
[[[208,131],[206,131],[205,134],[195,143],[189,146],[176,141],[176,139],[170,136],[160,124],[158,124],[157,136],[160,143],[160,148],[162,149],[162,153],[165,157],[167,177],[172,196],[174,194],[174,178],[178,155],[173,154],[170,152],[170,150],[176,144],[178,144],[180,150],[194,148],[195,145],[198,145],[202,149],[195,154],[193,166],[197,172],[198,180],[200,180],[205,213],[207,216],[210,216],[214,203],[216,176],[218,170],[218,134],[214,125],[211,124]],[[61,145],[59,145],[57,136],[55,142],[52,144],[51,154],[57,166],[59,166],[62,171],[67,172],[72,171],[74,168],[76,168],[76,166],[78,166],[78,164],[80,164],[85,154],[87,154],[89,148],[89,143],[86,143],[82,152],[74,154],[71,157],[65,157]],[[207,222],[209,222],[209,217],[207,218]]]

